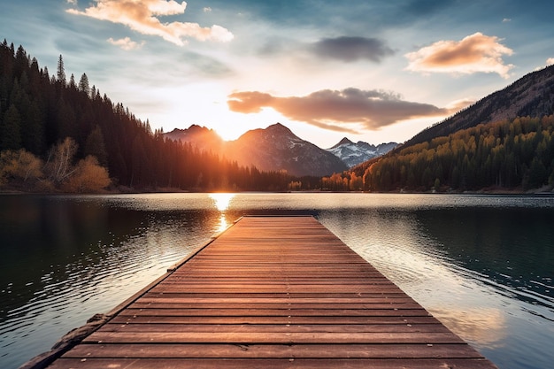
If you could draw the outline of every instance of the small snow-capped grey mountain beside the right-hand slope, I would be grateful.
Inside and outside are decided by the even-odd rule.
[[[344,137],[335,146],[327,149],[327,151],[333,153],[335,157],[340,158],[344,164],[351,168],[369,159],[381,157],[396,148],[396,146],[398,146],[396,142],[381,143],[377,146],[363,141],[354,143]]]

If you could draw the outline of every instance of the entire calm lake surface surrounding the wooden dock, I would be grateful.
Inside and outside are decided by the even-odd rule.
[[[554,362],[554,197],[0,196],[0,367],[49,350],[245,214],[312,214],[501,369]]]

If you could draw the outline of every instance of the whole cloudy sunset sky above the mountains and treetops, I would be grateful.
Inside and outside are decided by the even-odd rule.
[[[0,41],[152,129],[274,123],[329,148],[404,142],[554,64],[554,2],[18,0]]]

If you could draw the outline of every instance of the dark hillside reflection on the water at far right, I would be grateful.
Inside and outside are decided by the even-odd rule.
[[[422,230],[455,259],[457,273],[478,271],[473,278],[536,306],[537,314],[550,306],[550,317],[544,317],[554,319],[551,209],[505,209],[502,216],[490,208],[421,211],[418,219]]]

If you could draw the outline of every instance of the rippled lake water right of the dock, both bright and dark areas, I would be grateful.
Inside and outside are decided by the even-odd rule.
[[[486,197],[469,200],[475,204],[353,206],[319,219],[500,368],[550,367],[552,199],[542,208],[525,198],[503,198],[497,208]]]

